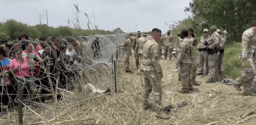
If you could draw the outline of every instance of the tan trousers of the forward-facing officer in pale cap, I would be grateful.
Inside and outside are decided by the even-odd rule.
[[[200,51],[199,56],[199,65],[198,65],[198,73],[199,74],[208,74],[209,67],[208,67],[208,57],[209,54],[207,51]]]

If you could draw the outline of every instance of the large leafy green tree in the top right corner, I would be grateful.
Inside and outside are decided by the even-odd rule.
[[[233,40],[241,40],[247,25],[255,20],[256,0],[195,0],[193,9],[208,25],[225,27]]]

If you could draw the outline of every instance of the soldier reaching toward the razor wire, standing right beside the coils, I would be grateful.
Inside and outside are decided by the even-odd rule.
[[[124,47],[124,67],[126,72],[131,72],[131,70],[129,69],[129,58],[131,55],[131,40],[129,38],[130,35],[127,34],[125,36],[126,41],[122,45],[119,45],[120,47]]]

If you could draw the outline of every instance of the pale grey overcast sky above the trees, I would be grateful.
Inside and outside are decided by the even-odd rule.
[[[75,18],[75,0],[1,0],[0,21],[14,19],[28,25],[39,24],[39,14],[42,24],[58,27],[67,26],[67,19]],[[192,0],[76,0],[81,11],[80,24],[87,28],[89,16],[91,23],[101,30],[113,30],[118,27],[124,32],[151,31],[153,28],[166,33],[173,21],[183,20],[187,17],[183,11]],[[73,10],[72,10],[73,9]],[[93,13],[96,22],[93,17]],[[187,14],[191,14],[188,13]],[[136,26],[137,25],[137,26]],[[70,26],[73,26],[71,23]],[[137,29],[137,30],[136,30]]]

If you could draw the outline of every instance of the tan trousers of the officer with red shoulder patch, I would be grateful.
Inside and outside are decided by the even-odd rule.
[[[209,54],[208,58],[208,66],[209,66],[209,76],[210,79],[216,81],[216,76],[218,74],[218,64],[219,64],[219,56],[214,54]]]

